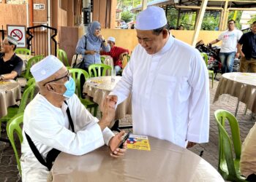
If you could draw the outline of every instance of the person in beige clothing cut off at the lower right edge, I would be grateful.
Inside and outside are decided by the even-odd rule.
[[[256,123],[242,145],[240,170],[246,181],[256,181]]]

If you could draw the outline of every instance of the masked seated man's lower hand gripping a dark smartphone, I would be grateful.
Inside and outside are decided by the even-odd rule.
[[[112,157],[121,157],[127,151],[127,142],[124,142],[123,149],[118,148],[119,144],[122,141],[122,136],[124,131],[119,132],[113,138],[110,139],[108,146],[110,147],[110,156]]]

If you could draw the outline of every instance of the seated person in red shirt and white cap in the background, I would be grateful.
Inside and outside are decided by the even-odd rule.
[[[110,52],[100,52],[100,55],[110,55],[113,58],[113,65],[117,74],[122,68],[124,55],[128,55],[129,50],[116,47],[116,39],[113,36],[108,37],[108,44],[110,44]]]

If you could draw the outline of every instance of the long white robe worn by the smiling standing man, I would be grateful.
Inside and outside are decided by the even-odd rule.
[[[169,37],[148,55],[138,44],[110,95],[121,103],[132,92],[133,132],[186,147],[208,142],[208,71],[200,53]]]

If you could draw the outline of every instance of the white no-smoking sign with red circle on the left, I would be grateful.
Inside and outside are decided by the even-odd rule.
[[[7,25],[7,34],[18,41],[17,47],[26,47],[26,26]]]

